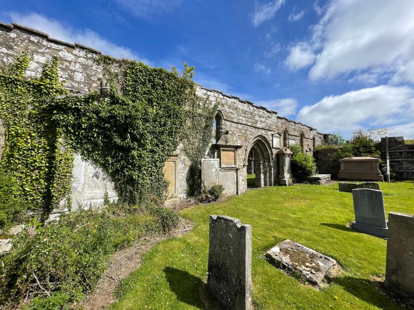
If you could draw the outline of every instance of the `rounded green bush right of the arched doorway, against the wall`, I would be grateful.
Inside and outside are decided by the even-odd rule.
[[[313,156],[303,153],[298,144],[289,146],[292,151],[292,174],[299,180],[306,180],[308,176],[315,174],[316,163]]]

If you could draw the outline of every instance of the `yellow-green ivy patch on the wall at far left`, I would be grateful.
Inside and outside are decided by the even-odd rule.
[[[65,93],[57,58],[40,78],[24,79],[30,57],[23,52],[0,74],[0,118],[6,141],[0,166],[14,176],[33,211],[49,211],[67,193],[72,150],[63,145],[62,128],[52,121],[55,97]]]

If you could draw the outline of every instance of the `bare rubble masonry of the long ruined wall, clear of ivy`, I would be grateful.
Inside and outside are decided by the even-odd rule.
[[[47,33],[18,24],[0,23],[0,62],[5,65],[10,64],[23,50],[27,50],[32,57],[26,71],[27,77],[39,76],[44,64],[57,55],[59,57],[60,79],[66,81],[64,87],[70,93],[88,93],[98,90],[101,86],[102,68],[94,61],[99,57],[99,51],[78,43],[62,42],[50,38]],[[249,150],[254,147],[253,144],[260,143],[261,149],[266,153],[262,154],[263,169],[260,171],[265,174],[263,184],[274,185],[278,176],[278,163],[275,155],[280,147],[283,147],[284,131],[288,135],[286,138],[291,143],[300,143],[300,135],[303,134],[303,148],[308,152],[312,152],[314,146],[320,144],[324,139],[324,136],[318,133],[315,128],[288,120],[279,116],[277,112],[256,106],[252,102],[216,90],[206,89],[200,85],[197,86],[197,93],[202,97],[209,97],[212,104],[216,101],[219,102],[218,109],[220,115],[223,116],[223,125],[226,130],[229,130],[227,144],[239,146],[235,149],[234,167],[227,168],[227,170],[220,169],[220,182],[224,182],[223,180],[234,182],[234,190],[230,190],[230,194],[239,194],[247,188],[247,157]],[[275,145],[274,137],[280,137],[281,145]],[[220,154],[212,147],[207,151],[206,157],[219,158]],[[171,198],[182,199],[186,197],[186,177],[190,162],[183,155],[182,145],[177,148],[174,154],[171,154],[171,158],[178,161],[178,176],[175,180],[178,185],[173,185],[177,190],[174,192],[174,197]],[[74,171],[81,169],[79,167],[81,163],[82,160],[75,160]],[[232,181],[233,172],[234,181]],[[92,176],[87,177],[92,178]],[[107,186],[113,189],[113,184],[108,182]],[[72,187],[72,192],[76,192],[74,187]],[[87,199],[86,197],[83,197],[85,199],[77,197],[76,199],[87,204],[101,200],[103,198],[100,197],[101,194],[97,191],[95,196]]]

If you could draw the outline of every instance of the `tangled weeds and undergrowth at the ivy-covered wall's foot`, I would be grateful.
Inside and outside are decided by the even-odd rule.
[[[176,217],[125,214],[112,204],[100,212],[65,214],[49,225],[33,219],[15,239],[14,251],[2,257],[0,304],[12,306],[33,297],[38,306],[56,303],[54,299],[80,299],[94,289],[110,254],[145,235],[168,230]]]

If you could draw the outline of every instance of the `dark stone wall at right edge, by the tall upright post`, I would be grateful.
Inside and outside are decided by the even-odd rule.
[[[381,160],[386,161],[385,138],[381,138]],[[390,167],[400,178],[414,179],[414,144],[406,144],[404,137],[388,137]]]

